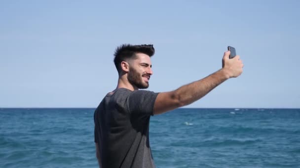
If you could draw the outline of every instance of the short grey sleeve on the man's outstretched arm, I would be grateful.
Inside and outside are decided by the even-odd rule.
[[[130,93],[127,105],[130,113],[153,115],[154,102],[158,93],[147,90],[135,90]]]

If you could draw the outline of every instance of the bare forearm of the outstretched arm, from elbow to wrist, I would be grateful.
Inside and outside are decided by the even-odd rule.
[[[181,107],[186,106],[202,98],[227,79],[229,79],[229,76],[225,69],[221,69],[199,81],[181,86],[174,90],[173,94],[178,99]]]

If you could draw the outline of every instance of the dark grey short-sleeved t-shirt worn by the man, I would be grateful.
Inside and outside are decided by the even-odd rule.
[[[94,113],[103,168],[155,168],[149,122],[157,94],[119,88],[104,97]]]

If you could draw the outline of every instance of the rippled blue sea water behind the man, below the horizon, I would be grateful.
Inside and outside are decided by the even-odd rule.
[[[97,168],[94,109],[0,109],[0,168]],[[157,168],[300,168],[300,109],[177,109],[150,119]]]

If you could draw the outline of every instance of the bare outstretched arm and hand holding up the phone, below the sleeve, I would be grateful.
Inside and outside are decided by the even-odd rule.
[[[186,84],[174,91],[161,92],[154,103],[154,114],[160,114],[199,100],[212,89],[229,78],[235,78],[243,72],[240,56],[229,59],[230,51],[224,53],[222,69],[191,84]]]

